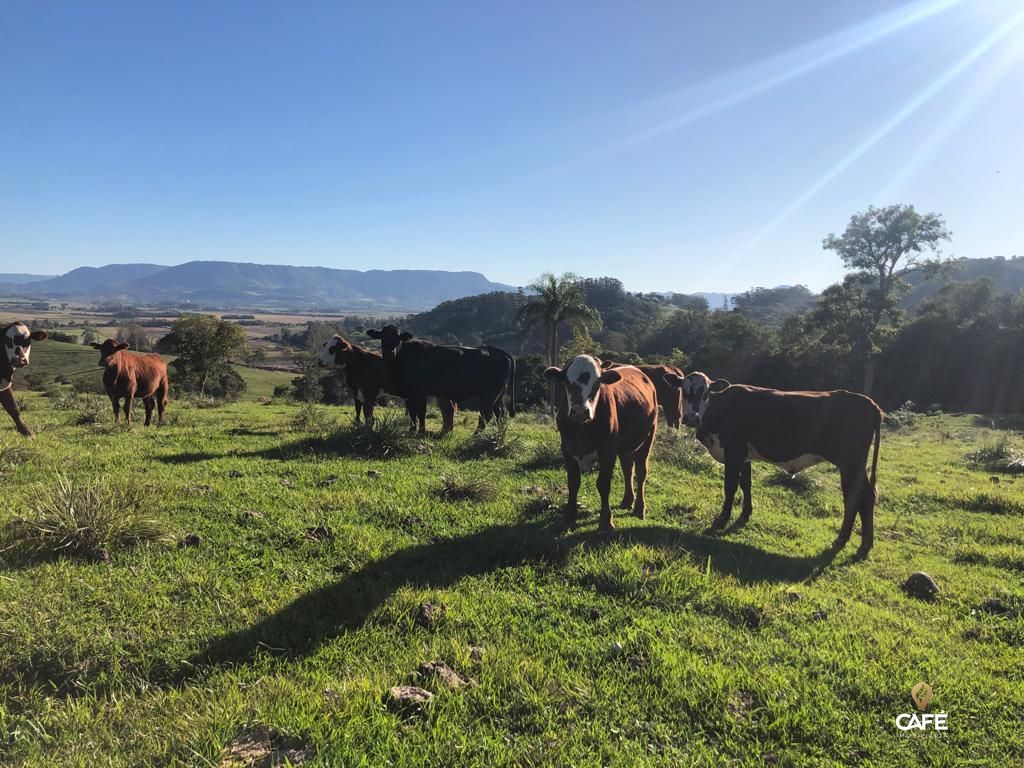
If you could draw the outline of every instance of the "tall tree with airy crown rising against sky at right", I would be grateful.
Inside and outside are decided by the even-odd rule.
[[[841,236],[829,233],[821,242],[826,251],[835,251],[847,269],[853,270],[862,289],[866,310],[863,338],[852,340],[862,355],[863,391],[870,393],[874,380],[874,354],[883,319],[894,318],[896,303],[909,290],[904,280],[912,272],[937,273],[938,260],[922,256],[926,250],[939,255],[939,244],[950,239],[942,217],[936,213],[918,213],[913,206],[868,207],[855,213]]]

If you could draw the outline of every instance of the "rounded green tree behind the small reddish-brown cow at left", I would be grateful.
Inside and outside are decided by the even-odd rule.
[[[173,364],[178,384],[198,389],[201,394],[206,393],[210,382],[230,383],[233,388],[238,373],[229,361],[244,355],[248,347],[242,326],[209,314],[179,317],[157,344],[158,351],[178,355]]]

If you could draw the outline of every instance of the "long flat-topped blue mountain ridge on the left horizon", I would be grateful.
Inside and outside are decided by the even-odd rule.
[[[58,278],[0,286],[2,295],[91,301],[166,302],[198,307],[416,310],[490,291],[514,291],[479,272],[189,261],[177,266],[110,264]]]

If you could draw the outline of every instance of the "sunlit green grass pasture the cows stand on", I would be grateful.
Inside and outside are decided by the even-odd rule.
[[[0,765],[270,765],[240,757],[260,734],[317,766],[1024,754],[1024,479],[966,461],[1008,434],[984,420],[883,435],[877,544],[855,561],[856,534],[826,554],[835,471],[756,466],[751,522],[714,536],[721,470],[666,431],[648,518],[601,535],[593,474],[581,525],[560,525],[557,434],[539,417],[513,422],[504,458],[466,458],[464,414],[412,457],[367,460],[316,430],[350,409],[172,401],[165,426],[126,430],[23,399],[35,440],[0,419]],[[11,521],[61,478],[139,488],[167,539],[34,554]],[[916,570],[937,601],[901,591]],[[476,684],[418,672],[433,660]],[[896,729],[919,681],[948,731]],[[396,709],[401,684],[435,697]]]

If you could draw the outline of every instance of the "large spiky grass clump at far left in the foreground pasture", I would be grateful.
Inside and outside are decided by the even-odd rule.
[[[75,481],[57,475],[12,522],[13,539],[37,555],[105,556],[117,548],[167,539],[148,510],[152,492],[123,478]]]

